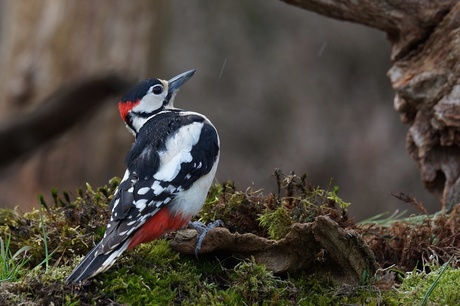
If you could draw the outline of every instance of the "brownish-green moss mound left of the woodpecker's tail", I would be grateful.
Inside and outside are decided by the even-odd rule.
[[[105,231],[108,203],[118,182],[118,179],[112,180],[109,186],[97,190],[87,184],[86,190],[77,191],[78,196],[73,201],[69,193],[59,196],[52,190],[52,204],[39,197],[42,209],[34,208],[24,214],[3,213],[7,217],[0,225],[0,237],[11,237],[11,250],[29,247],[29,268],[42,263],[45,249],[48,254],[52,253],[48,258],[51,262],[66,262],[75,255],[85,255]]]

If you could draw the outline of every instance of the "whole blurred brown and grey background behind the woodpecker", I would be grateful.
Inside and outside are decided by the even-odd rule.
[[[268,193],[274,168],[322,187],[332,178],[358,220],[409,208],[390,192],[438,208],[404,147],[384,33],[276,0],[0,0],[0,18],[0,120],[95,73],[168,79],[196,68],[176,106],[218,128],[218,181]],[[2,168],[0,207],[122,176],[132,136],[118,98]]]

